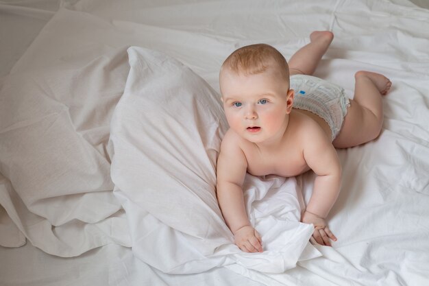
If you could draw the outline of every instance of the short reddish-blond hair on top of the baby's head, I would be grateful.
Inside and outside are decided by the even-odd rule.
[[[236,74],[255,75],[277,67],[284,80],[289,82],[289,66],[286,59],[274,47],[267,44],[248,45],[236,49],[223,62],[221,71],[228,68]]]

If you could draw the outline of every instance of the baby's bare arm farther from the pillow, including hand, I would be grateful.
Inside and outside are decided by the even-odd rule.
[[[339,195],[341,164],[326,134],[314,130],[312,135],[311,140],[306,140],[304,159],[317,177],[302,222],[315,226],[313,237],[317,243],[330,246],[330,239],[336,241],[336,237],[328,228],[325,218]]]

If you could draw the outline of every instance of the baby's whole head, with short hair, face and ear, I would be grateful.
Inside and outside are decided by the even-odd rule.
[[[288,64],[278,50],[265,44],[237,49],[223,63],[219,82],[232,130],[254,143],[282,136],[293,91]]]

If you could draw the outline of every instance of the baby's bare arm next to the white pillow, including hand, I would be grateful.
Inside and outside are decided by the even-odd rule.
[[[262,240],[249,222],[243,198],[247,160],[232,137],[225,134],[217,160],[217,200],[235,244],[245,252],[262,252]]]

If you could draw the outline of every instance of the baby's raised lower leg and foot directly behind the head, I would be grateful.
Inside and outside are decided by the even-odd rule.
[[[334,34],[330,31],[312,32],[310,34],[310,43],[294,53],[289,60],[289,72],[291,75],[312,75],[333,39]]]

